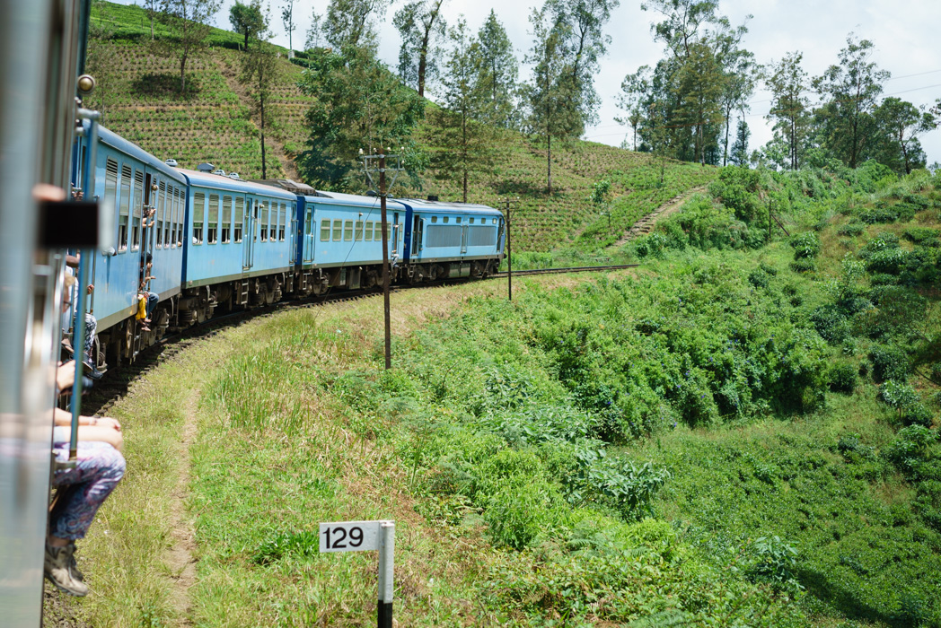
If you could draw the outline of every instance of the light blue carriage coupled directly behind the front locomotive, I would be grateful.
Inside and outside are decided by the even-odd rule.
[[[391,279],[402,270],[407,208],[386,202]],[[382,216],[377,196],[318,192],[297,197],[296,265],[301,294],[369,289],[382,282]]]

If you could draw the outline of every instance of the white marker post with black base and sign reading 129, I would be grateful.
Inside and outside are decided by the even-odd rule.
[[[378,627],[392,628],[395,522],[344,521],[320,525],[321,552],[379,550]]]

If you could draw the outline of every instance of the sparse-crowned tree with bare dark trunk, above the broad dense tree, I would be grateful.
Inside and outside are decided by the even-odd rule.
[[[418,89],[418,95],[424,97],[426,79],[438,75],[438,64],[434,50],[439,39],[445,34],[447,24],[441,17],[441,6],[446,0],[414,0],[400,8],[392,19],[402,39],[399,48],[399,75],[408,85]]]

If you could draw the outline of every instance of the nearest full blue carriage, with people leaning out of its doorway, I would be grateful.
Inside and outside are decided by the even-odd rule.
[[[159,339],[175,316],[183,272],[183,222],[186,180],[132,142],[98,130],[94,189],[114,212],[114,247],[96,252],[91,260],[88,311],[98,321],[95,359],[98,367],[117,366],[133,360],[136,353]],[[87,141],[78,143],[84,156]],[[82,164],[83,160],[76,160]],[[75,181],[82,181],[80,168]],[[154,213],[146,218],[149,210]],[[137,294],[144,261],[152,255],[152,279],[147,288],[159,295],[151,331],[142,331],[136,321]]]

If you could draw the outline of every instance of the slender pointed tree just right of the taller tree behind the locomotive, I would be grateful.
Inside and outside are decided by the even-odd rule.
[[[485,118],[491,124],[517,128],[519,63],[513,43],[492,8],[477,32],[476,43],[477,84],[488,98]]]

